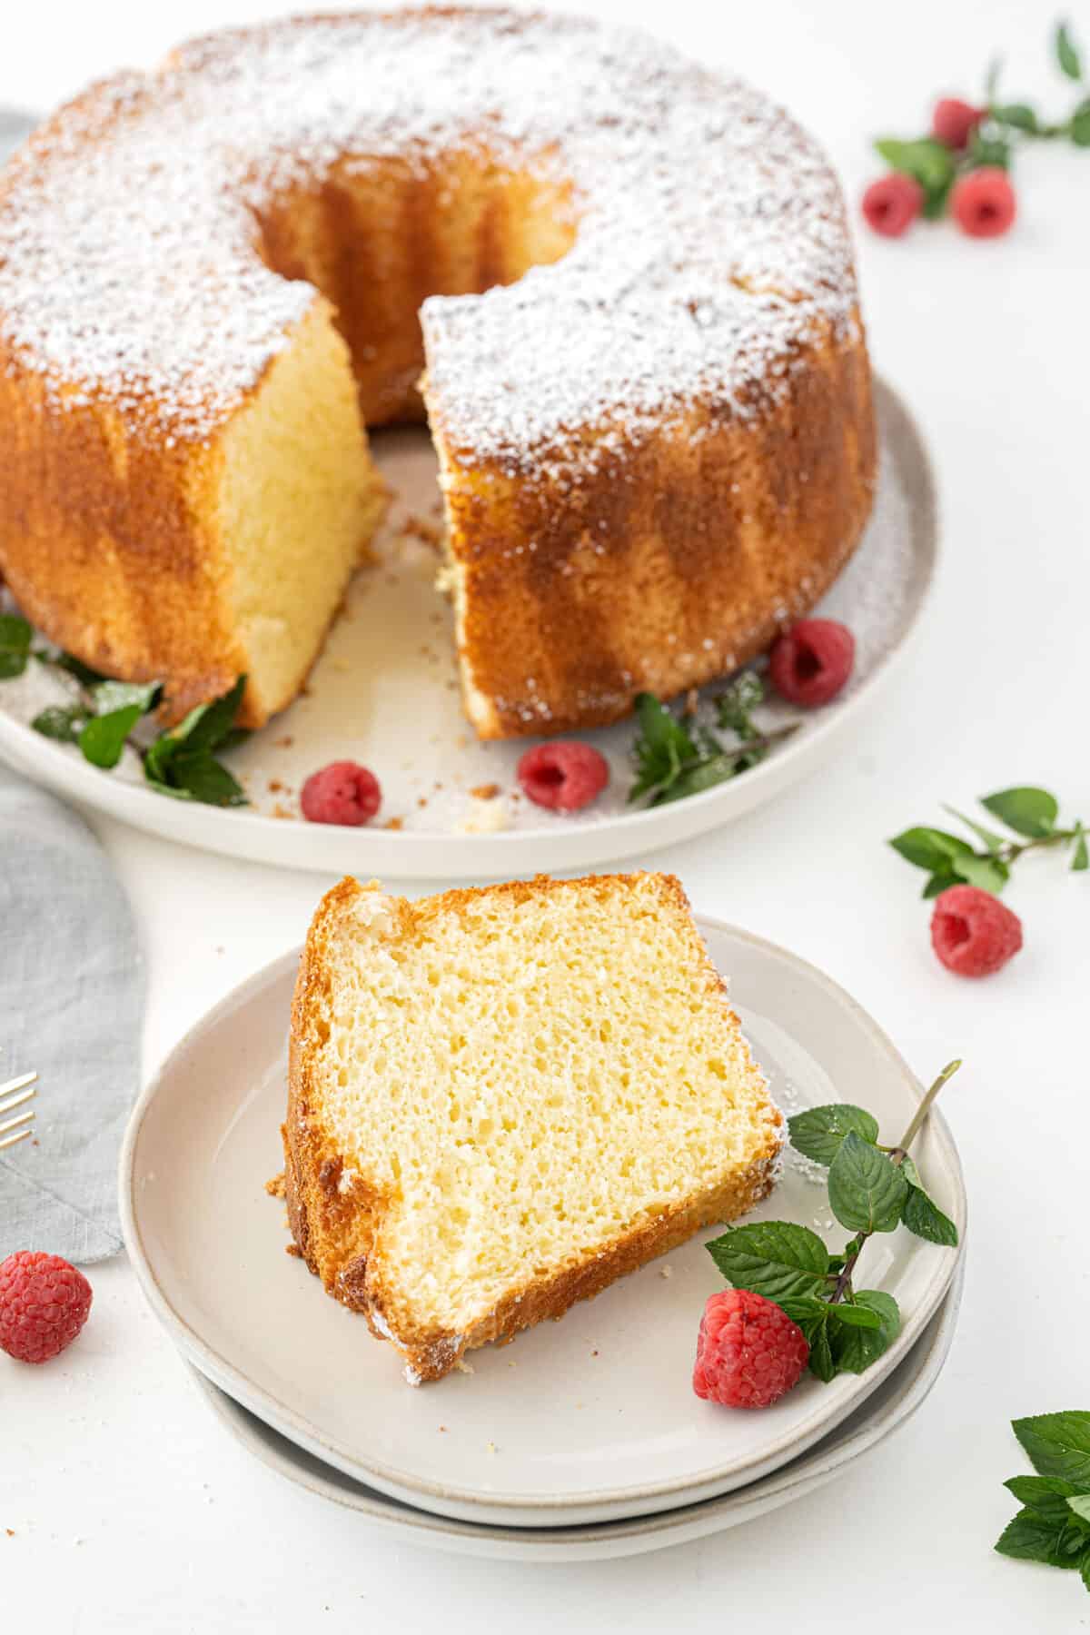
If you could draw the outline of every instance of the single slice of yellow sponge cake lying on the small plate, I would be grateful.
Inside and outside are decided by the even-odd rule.
[[[413,1383],[766,1195],[781,1117],[673,875],[343,880],[291,1019],[291,1228]]]

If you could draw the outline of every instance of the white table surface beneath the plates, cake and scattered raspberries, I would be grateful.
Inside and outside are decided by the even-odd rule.
[[[922,128],[933,92],[976,92],[994,49],[1010,90],[1054,98],[1048,7],[585,5],[745,72],[824,139],[855,198],[868,136]],[[1075,10],[1075,8],[1072,8]],[[273,13],[260,0],[21,7],[5,21],[0,101],[44,108],[176,36]],[[1090,7],[1075,23],[1090,46]],[[80,1342],[44,1368],[0,1357],[0,1606],[39,1630],[518,1627],[886,1635],[1090,1625],[1077,1578],[1003,1561],[1026,1468],[1008,1419],[1090,1408],[1085,1254],[1090,880],[1026,860],[1008,901],[1026,947],[981,984],[935,961],[920,875],[884,844],[940,801],[1018,782],[1090,818],[1087,755],[1087,327],[1090,154],[1016,170],[1005,240],[953,227],[860,234],[873,355],[915,407],[940,473],[938,598],[882,713],[848,754],[771,809],[649,855],[698,907],[824,966],[946,1095],[971,1197],[954,1349],[912,1426],[833,1488],[745,1529],[636,1560],[521,1566],[391,1547],[229,1442],[123,1261],[93,1270]],[[1082,298],[1082,299],[1080,299]],[[296,943],[330,883],[230,863],[93,819],[139,916],[150,970],[147,1066],[212,1001]],[[7,1535],[11,1529],[13,1537]],[[954,1610],[956,1609],[956,1610]]]

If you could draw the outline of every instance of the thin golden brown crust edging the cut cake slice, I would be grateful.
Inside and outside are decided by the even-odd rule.
[[[631,876],[598,875],[580,885],[608,891],[626,885]],[[678,907],[690,912],[688,898],[673,875],[659,876],[660,888],[673,896]],[[453,889],[427,899],[430,919],[471,904],[485,893],[503,893],[515,903],[533,901],[543,891],[564,889],[564,881],[546,875],[533,881],[510,881],[500,886]],[[343,1156],[322,1123],[320,1095],[315,1091],[315,1058],[320,1050],[320,1022],[328,1001],[332,943],[338,922],[363,896],[364,888],[353,878],[342,880],[322,899],[312,921],[296,979],[288,1071],[288,1117],[283,1125],[284,1190],[293,1238],[309,1265],[322,1279],[327,1293],[368,1318],[381,1339],[395,1339],[413,1382],[438,1380],[456,1367],[467,1349],[511,1339],[520,1329],[546,1318],[562,1316],[577,1300],[590,1300],[618,1277],[634,1272],[647,1261],[685,1243],[701,1226],[735,1220],[753,1208],[773,1187],[780,1158],[781,1118],[770,1123],[768,1144],[752,1166],[724,1185],[691,1197],[663,1210],[655,1220],[619,1234],[613,1243],[562,1267],[552,1275],[528,1279],[511,1290],[485,1318],[466,1333],[418,1333],[399,1324],[392,1336],[386,1311],[391,1301],[384,1292],[381,1269],[369,1264],[369,1248],[379,1228],[386,1200],[368,1189],[358,1174],[345,1184]],[[404,907],[391,899],[394,914]],[[722,979],[709,970],[716,986],[726,994]],[[737,1019],[734,1017],[737,1024]]]

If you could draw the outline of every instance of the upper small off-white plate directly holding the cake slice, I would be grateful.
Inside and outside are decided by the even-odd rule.
[[[896,1141],[920,1086],[874,1022],[794,955],[711,921],[701,930],[730,979],[784,1110],[860,1102]],[[296,955],[199,1022],[144,1091],[121,1158],[121,1212],[137,1277],[186,1357],[309,1454],[417,1507],[462,1521],[546,1527],[646,1516],[714,1498],[812,1447],[907,1355],[958,1254],[904,1228],[868,1244],[861,1275],[896,1295],[899,1339],[863,1375],[809,1375],[760,1414],[691,1390],[696,1328],[722,1280],[701,1234],[621,1279],[561,1323],[469,1357],[472,1372],[412,1390],[394,1347],[330,1300],[286,1254],[284,1033]],[[928,1069],[941,1066],[928,1063]],[[959,1226],[966,1202],[941,1117],[914,1148]],[[788,1161],[758,1218],[802,1221],[830,1244],[824,1172]]]

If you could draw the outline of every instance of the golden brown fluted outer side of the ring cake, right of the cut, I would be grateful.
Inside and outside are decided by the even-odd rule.
[[[580,504],[446,450],[482,737],[616,721],[641,692],[730,674],[820,600],[871,512],[871,373],[861,337],[833,334],[796,365],[786,391],[752,391],[747,419],[693,410],[699,438],[667,428],[605,453]]]

